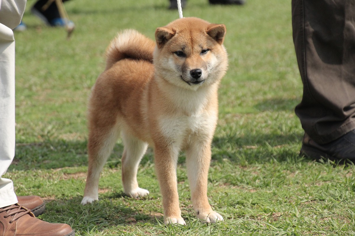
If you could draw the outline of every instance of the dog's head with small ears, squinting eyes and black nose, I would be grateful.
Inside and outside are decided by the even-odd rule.
[[[155,73],[171,84],[195,91],[219,82],[228,64],[223,46],[225,33],[224,24],[195,17],[157,28]]]

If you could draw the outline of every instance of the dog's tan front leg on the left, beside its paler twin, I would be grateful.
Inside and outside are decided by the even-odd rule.
[[[155,146],[155,168],[163,195],[164,224],[186,224],[179,207],[176,180],[178,153],[178,148],[172,145]]]

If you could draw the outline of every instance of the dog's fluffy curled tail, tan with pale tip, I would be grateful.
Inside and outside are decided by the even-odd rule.
[[[116,62],[131,58],[153,62],[155,42],[134,29],[118,33],[106,50],[106,69]]]

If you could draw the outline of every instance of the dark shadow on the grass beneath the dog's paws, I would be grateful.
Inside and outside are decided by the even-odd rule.
[[[51,223],[69,224],[81,235],[85,232],[103,231],[112,226],[131,225],[137,222],[158,224],[154,216],[142,214],[135,208],[125,205],[122,197],[105,197],[85,206],[80,202],[81,197],[47,200],[46,211],[40,218]],[[163,220],[160,216],[156,218]]]

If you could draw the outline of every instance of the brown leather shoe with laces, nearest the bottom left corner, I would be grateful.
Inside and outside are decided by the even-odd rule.
[[[67,224],[52,224],[34,217],[31,210],[18,203],[0,208],[1,236],[74,236]]]

